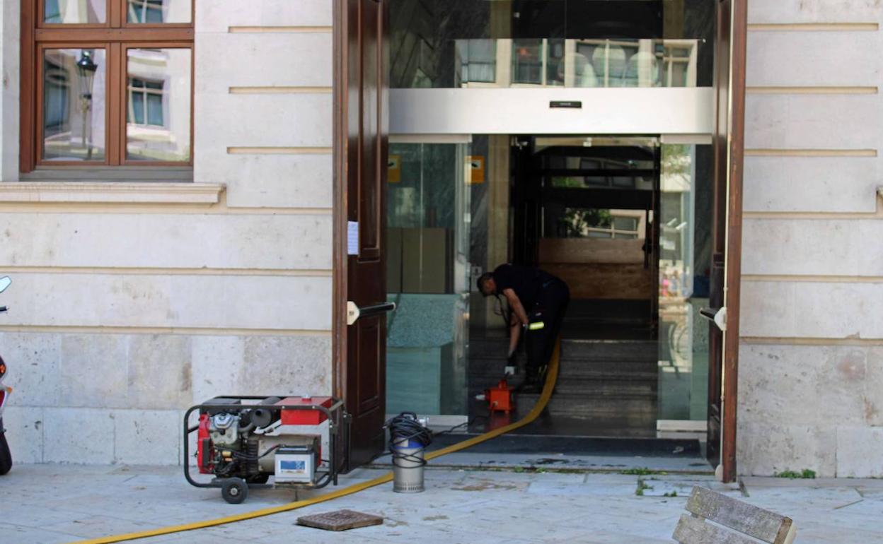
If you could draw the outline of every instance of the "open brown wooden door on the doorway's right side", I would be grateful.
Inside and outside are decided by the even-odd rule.
[[[709,311],[708,460],[736,480],[747,0],[719,0],[715,51],[714,227]]]

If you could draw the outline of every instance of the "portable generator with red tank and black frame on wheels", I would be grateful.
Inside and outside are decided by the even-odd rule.
[[[198,422],[191,423],[198,413]],[[323,488],[337,484],[337,446],[346,436],[343,401],[332,397],[223,396],[191,406],[184,416],[184,473],[197,488],[221,488],[228,503],[248,497],[249,486]],[[191,439],[196,466],[211,481],[191,474]]]

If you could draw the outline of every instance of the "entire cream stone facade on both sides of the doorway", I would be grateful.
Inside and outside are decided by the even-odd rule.
[[[739,472],[883,476],[883,3],[749,17]],[[192,183],[19,179],[19,0],[2,18],[17,461],[175,465],[193,402],[329,394],[331,1],[196,3]]]

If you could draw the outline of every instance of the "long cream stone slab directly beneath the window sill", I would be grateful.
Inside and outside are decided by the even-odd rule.
[[[27,221],[20,216],[0,213],[0,232],[5,236],[0,244],[2,263],[104,268],[331,268],[330,214],[61,212],[36,214]]]

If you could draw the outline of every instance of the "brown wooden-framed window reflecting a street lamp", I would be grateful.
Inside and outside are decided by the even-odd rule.
[[[193,1],[22,0],[22,172],[192,166]]]

